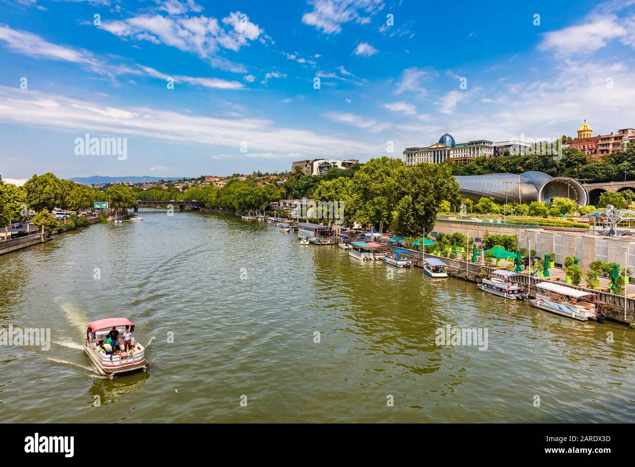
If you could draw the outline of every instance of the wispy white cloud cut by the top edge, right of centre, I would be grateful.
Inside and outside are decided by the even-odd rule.
[[[368,24],[370,17],[381,11],[382,0],[312,0],[313,10],[302,15],[302,22],[326,34],[342,31],[341,24],[354,21]]]

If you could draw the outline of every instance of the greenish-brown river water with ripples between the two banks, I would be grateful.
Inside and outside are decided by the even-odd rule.
[[[635,421],[627,327],[362,264],[263,222],[142,215],[0,257],[0,328],[53,341],[0,347],[0,421]],[[150,342],[147,374],[91,369],[86,325],[106,313]],[[485,328],[488,348],[437,346],[448,324]]]

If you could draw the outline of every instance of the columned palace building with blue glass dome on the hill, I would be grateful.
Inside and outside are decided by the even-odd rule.
[[[479,157],[489,158],[493,154],[493,142],[488,140],[473,140],[467,143],[455,142],[450,133],[445,132],[439,142],[427,147],[406,147],[403,155],[406,165],[422,162],[442,164],[446,161],[459,165],[469,164]]]

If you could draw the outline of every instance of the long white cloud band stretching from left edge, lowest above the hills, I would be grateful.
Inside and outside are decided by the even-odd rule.
[[[254,152],[300,152],[316,157],[324,153],[370,156],[385,152],[385,145],[369,144],[342,134],[321,135],[312,130],[276,126],[269,119],[196,116],[149,107],[120,110],[135,116],[115,118],[108,115],[107,107],[96,102],[43,95],[34,90],[25,93],[18,88],[0,86],[0,121],[51,128],[68,132],[71,137],[88,132],[95,135],[123,135],[129,139],[206,144],[225,147],[226,152],[235,152],[236,156],[241,156],[241,141],[248,141],[250,151]],[[151,115],[152,118],[144,118],[144,115]]]

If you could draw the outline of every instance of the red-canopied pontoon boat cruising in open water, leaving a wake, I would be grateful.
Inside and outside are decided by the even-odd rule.
[[[88,355],[97,372],[102,376],[113,379],[115,376],[135,370],[144,370],[150,365],[145,360],[145,348],[139,342],[132,338],[132,348],[127,351],[120,351],[117,355],[105,353],[101,348],[104,340],[112,328],[119,331],[119,340],[117,346],[123,349],[123,333],[128,327],[130,332],[135,331],[135,323],[128,318],[104,318],[103,320],[93,321],[88,325],[86,330],[86,344],[84,344],[84,352]]]

